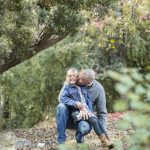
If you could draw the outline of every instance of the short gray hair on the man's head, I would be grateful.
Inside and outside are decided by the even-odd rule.
[[[88,80],[93,81],[95,79],[95,72],[93,69],[88,68],[88,69],[82,70],[81,72],[84,74],[84,76]]]

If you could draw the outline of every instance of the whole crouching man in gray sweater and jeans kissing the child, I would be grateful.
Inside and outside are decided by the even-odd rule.
[[[92,69],[85,69],[79,73],[78,84],[85,85],[88,88],[89,95],[91,96],[93,105],[96,106],[97,117],[103,127],[106,129],[106,118],[107,118],[107,109],[106,109],[106,98],[105,91],[102,85],[95,80],[95,72]],[[63,88],[60,92],[63,92]],[[59,96],[61,97],[61,96]],[[74,123],[73,118],[71,117],[69,107],[61,103],[57,106],[56,112],[56,124],[57,124],[57,133],[58,138],[57,142],[59,144],[64,143],[66,140],[66,128],[67,129],[76,129],[76,141],[77,143],[84,142],[84,136],[91,131],[91,126],[86,121],[80,121],[78,126]],[[75,106],[79,109],[82,108],[82,104]],[[87,118],[87,112],[82,112],[83,118]]]

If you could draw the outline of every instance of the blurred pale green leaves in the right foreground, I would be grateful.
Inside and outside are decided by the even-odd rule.
[[[128,149],[148,150],[150,147],[150,73],[142,75],[137,69],[124,69],[120,72],[109,72],[109,75],[118,81],[115,87],[121,95],[115,110],[130,110],[119,123],[120,127],[128,129],[132,123],[135,128],[135,132],[126,139]]]

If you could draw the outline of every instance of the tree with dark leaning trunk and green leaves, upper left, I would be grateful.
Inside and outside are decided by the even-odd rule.
[[[74,33],[83,23],[81,10],[114,1],[1,0],[0,74]]]

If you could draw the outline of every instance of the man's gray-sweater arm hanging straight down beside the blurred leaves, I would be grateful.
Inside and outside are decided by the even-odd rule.
[[[104,88],[102,86],[100,86],[98,89],[98,96],[95,101],[95,104],[97,117],[101,122],[102,126],[104,127],[104,129],[106,129],[106,122],[107,122],[106,96]]]

